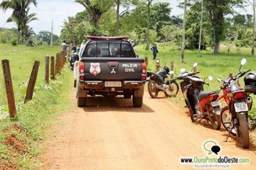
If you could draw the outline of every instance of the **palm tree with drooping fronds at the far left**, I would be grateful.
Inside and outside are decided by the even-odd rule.
[[[12,16],[7,18],[6,22],[16,22],[18,27],[18,32],[22,31],[22,22],[24,22],[24,18],[27,16],[27,9],[29,5],[37,6],[37,0],[3,0],[0,3],[0,9],[3,9],[4,12],[10,9],[12,11]],[[18,35],[18,43],[20,41],[20,34]]]

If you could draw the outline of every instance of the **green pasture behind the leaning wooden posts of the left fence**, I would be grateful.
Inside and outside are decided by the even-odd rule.
[[[38,84],[44,81],[44,56],[56,56],[59,52],[56,46],[37,46],[34,48],[27,46],[10,46],[10,44],[0,44],[0,60],[10,61],[12,84],[16,103],[24,101],[27,84],[35,61],[40,61],[37,75]],[[3,80],[3,69],[0,69],[0,106],[6,105],[5,86]]]

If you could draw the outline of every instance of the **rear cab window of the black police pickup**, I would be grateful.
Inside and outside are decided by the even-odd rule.
[[[91,41],[82,57],[135,58],[131,44],[126,41]]]

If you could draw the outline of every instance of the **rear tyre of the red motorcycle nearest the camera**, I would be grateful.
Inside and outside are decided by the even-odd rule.
[[[249,139],[249,129],[246,120],[246,114],[238,113],[239,118],[239,137],[242,148],[249,148],[250,139]]]

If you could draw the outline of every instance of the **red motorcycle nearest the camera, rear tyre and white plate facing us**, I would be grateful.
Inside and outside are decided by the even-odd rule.
[[[227,141],[230,134],[240,137],[242,148],[249,148],[249,126],[248,126],[248,105],[246,93],[242,86],[239,85],[238,79],[244,76],[247,72],[241,71],[242,65],[246,63],[243,58],[239,73],[235,76],[230,76],[223,81],[221,90],[223,95],[220,95],[217,101],[224,99],[227,106],[221,109],[221,123],[224,128],[229,132],[225,141]],[[221,82],[221,78],[217,78]]]

